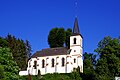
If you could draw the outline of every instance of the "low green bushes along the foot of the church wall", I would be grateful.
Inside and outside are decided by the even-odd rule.
[[[72,73],[48,73],[44,76],[32,76],[32,80],[82,80],[82,78],[78,67]]]

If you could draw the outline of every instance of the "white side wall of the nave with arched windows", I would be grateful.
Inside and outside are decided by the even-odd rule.
[[[29,60],[31,67],[29,67],[28,62],[28,69],[31,73],[31,75],[37,74],[36,70],[40,70],[41,74],[44,75],[46,73],[67,73],[72,71],[72,68],[70,67],[71,64],[66,64],[66,62],[70,62],[70,59],[67,60],[67,55],[57,55],[57,56],[46,56],[46,57],[38,57],[38,58],[32,58]],[[62,66],[62,58],[65,59],[65,64]],[[45,60],[45,67],[42,68],[42,60]],[[54,67],[52,67],[52,59],[54,59]],[[37,69],[34,69],[34,61],[37,61]],[[68,67],[68,68],[67,68]]]

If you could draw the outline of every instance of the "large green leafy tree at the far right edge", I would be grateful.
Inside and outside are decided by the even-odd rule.
[[[95,50],[100,56],[96,64],[97,80],[114,80],[120,76],[120,39],[105,37]]]

